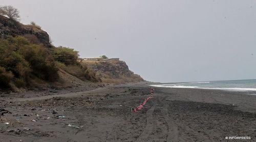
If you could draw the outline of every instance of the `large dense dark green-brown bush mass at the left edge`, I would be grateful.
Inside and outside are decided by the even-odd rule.
[[[54,81],[58,77],[54,58],[47,49],[31,44],[22,36],[0,39],[0,70],[4,87],[8,87],[11,81],[16,86],[25,87],[33,77],[46,81]]]

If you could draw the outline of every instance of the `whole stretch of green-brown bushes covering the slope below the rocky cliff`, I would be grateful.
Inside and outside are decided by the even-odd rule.
[[[33,78],[53,82],[58,79],[58,67],[84,80],[99,81],[94,72],[82,67],[74,49],[58,47],[49,50],[33,44],[23,36],[0,39],[0,88],[30,86]]]

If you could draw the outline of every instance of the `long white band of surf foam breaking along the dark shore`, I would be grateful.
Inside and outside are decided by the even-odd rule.
[[[150,85],[154,87],[167,87],[167,88],[197,88],[197,89],[217,89],[217,90],[233,90],[233,91],[256,91],[256,88],[209,88],[209,87],[198,87],[198,86],[183,86],[183,85],[172,85],[172,86],[163,86],[163,85]]]

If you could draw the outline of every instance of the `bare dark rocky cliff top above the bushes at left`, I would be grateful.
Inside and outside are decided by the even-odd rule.
[[[15,20],[11,20],[5,16],[0,15],[0,36],[6,38],[7,36],[25,36],[29,40],[40,42],[48,47],[51,46],[49,35],[36,26],[23,25]]]

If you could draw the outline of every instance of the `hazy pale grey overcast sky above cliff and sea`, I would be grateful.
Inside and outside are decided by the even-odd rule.
[[[119,57],[148,81],[256,78],[255,0],[0,0],[81,57]]]

